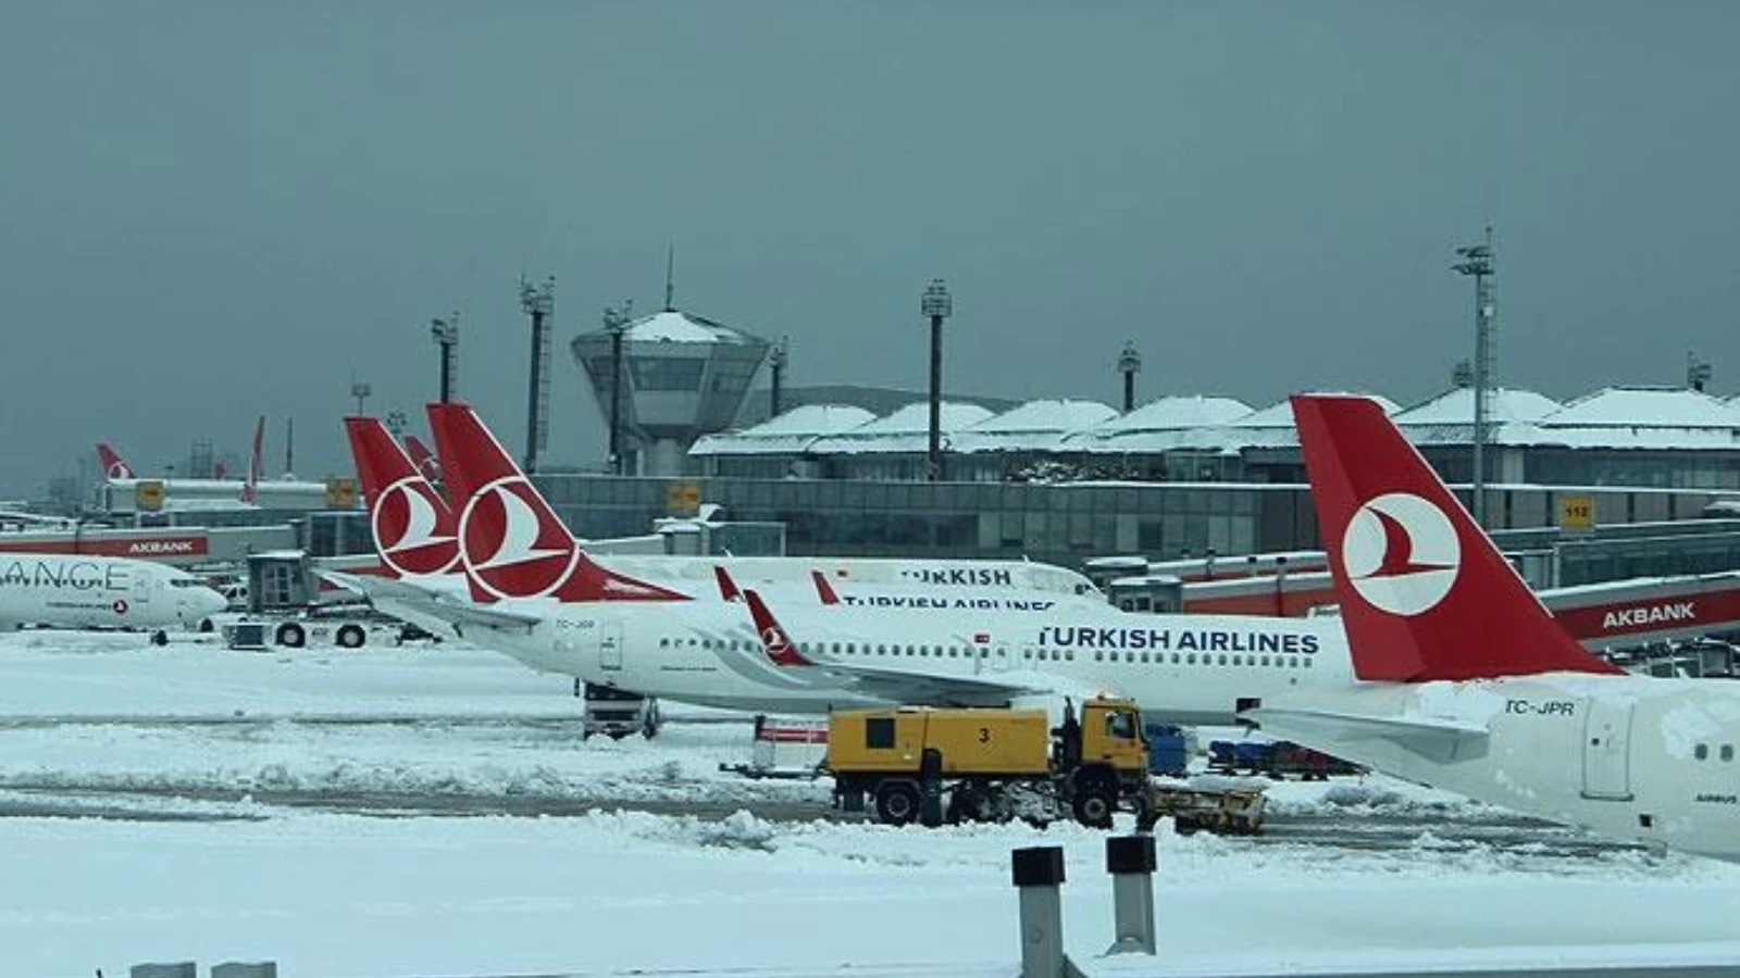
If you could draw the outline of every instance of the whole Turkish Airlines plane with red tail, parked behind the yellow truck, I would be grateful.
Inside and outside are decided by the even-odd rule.
[[[1154,616],[1103,602],[1047,616],[818,604],[792,618],[811,635],[799,646],[807,668],[793,668],[766,654],[741,606],[693,600],[586,557],[468,407],[430,405],[430,423],[449,491],[465,499],[456,538],[468,593],[409,578],[329,576],[388,614],[440,618],[466,640],[545,672],[687,703],[793,713],[1051,703],[1108,689],[1180,722],[1225,722],[1241,700],[1352,679],[1335,620]]]

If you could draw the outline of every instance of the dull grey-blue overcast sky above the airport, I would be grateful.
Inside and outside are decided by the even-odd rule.
[[[82,3],[0,30],[0,496],[284,419],[348,470],[459,390],[524,440],[520,273],[557,277],[550,461],[604,454],[567,353],[663,298],[790,334],[788,383],[1115,402],[1737,390],[1740,5]],[[419,425],[421,426],[421,425]]]

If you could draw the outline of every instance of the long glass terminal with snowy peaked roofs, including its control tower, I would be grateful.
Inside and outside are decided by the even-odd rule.
[[[632,419],[632,475],[536,477],[585,538],[646,533],[708,503],[733,520],[783,524],[786,552],[804,555],[1081,567],[1115,553],[1235,557],[1321,543],[1286,402],[1256,409],[1225,397],[1161,397],[1129,412],[1091,400],[1007,411],[945,402],[943,477],[929,482],[922,397],[886,414],[804,404],[726,430],[720,418],[727,402],[741,405],[764,341],[666,310],[630,324],[623,348],[618,411]],[[609,331],[574,341],[607,414],[609,350]],[[1467,499],[1474,392],[1389,407]],[[1608,388],[1561,404],[1496,390],[1484,459],[1489,529],[1533,531],[1533,545],[1552,548],[1540,538],[1561,534],[1564,499],[1587,499],[1594,529],[1563,531],[1587,553],[1616,524],[1703,520],[1740,498],[1740,399]],[[1740,524],[1700,526],[1707,533],[1693,536],[1709,539],[1698,546],[1684,534],[1650,543],[1651,534],[1632,533],[1623,559],[1571,560],[1557,583],[1740,567]]]

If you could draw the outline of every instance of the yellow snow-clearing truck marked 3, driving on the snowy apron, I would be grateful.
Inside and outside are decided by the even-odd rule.
[[[1143,818],[1148,747],[1129,700],[1088,700],[1051,727],[1044,710],[849,710],[828,719],[833,804],[877,821],[1075,818],[1108,828],[1114,813]]]

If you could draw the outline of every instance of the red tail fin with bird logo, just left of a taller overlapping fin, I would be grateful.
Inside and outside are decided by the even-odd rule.
[[[393,576],[444,574],[459,566],[458,520],[376,418],[346,418],[374,550]]]

